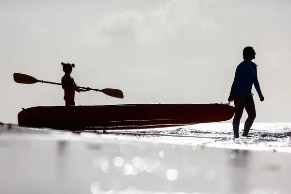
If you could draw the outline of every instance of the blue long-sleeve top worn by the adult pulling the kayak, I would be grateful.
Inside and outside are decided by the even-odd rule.
[[[236,68],[234,81],[230,90],[230,95],[233,96],[235,92],[250,95],[253,84],[258,94],[261,95],[262,93],[259,87],[257,66],[253,62],[248,62],[244,60]]]

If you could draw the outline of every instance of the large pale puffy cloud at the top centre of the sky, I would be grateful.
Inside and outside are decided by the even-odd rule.
[[[104,16],[96,27],[87,25],[83,33],[90,44],[131,42],[149,45],[181,34],[204,38],[219,30],[210,18],[201,19],[196,0],[170,0],[158,8],[142,13],[124,11]]]

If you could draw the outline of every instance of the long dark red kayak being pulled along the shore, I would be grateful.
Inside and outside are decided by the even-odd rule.
[[[151,129],[221,122],[234,115],[229,104],[121,104],[37,106],[18,113],[20,127],[66,130]]]

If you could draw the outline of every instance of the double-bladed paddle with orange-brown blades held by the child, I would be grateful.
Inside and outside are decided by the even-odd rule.
[[[25,83],[25,84],[32,84],[32,83],[37,83],[37,82],[42,82],[42,83],[51,83],[51,84],[56,84],[56,85],[62,85],[62,83],[55,83],[55,82],[50,82],[50,81],[43,81],[43,80],[37,80],[36,78],[33,78],[32,76],[21,74],[21,73],[14,73],[13,74],[14,81],[16,83]],[[80,87],[77,86],[78,88],[82,89],[87,89],[86,87]],[[112,88],[105,88],[102,90],[98,89],[92,89],[90,90],[95,90],[97,92],[102,92],[108,96],[111,97],[118,97],[118,98],[123,98],[123,93],[121,90],[118,89],[112,89]]]

